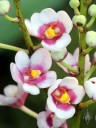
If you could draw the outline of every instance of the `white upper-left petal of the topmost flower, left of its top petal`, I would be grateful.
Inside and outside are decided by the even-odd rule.
[[[32,35],[37,37],[39,36],[38,30],[43,25],[43,23],[40,21],[39,15],[39,13],[34,13],[31,16],[31,30],[33,32]]]

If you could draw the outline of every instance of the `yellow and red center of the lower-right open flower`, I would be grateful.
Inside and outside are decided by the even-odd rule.
[[[68,95],[66,90],[62,87],[57,88],[54,91],[53,96],[56,100],[58,100],[62,103],[69,103],[69,101],[70,101],[70,96]]]

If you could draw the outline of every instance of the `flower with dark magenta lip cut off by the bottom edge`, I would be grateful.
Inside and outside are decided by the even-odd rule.
[[[66,121],[56,117],[49,109],[38,114],[37,125],[38,128],[67,128]]]

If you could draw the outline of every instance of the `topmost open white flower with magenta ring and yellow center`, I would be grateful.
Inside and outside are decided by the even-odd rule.
[[[69,33],[73,24],[65,11],[56,13],[46,8],[26,19],[25,24],[29,34],[41,39],[42,46],[52,52],[61,51],[71,42]]]

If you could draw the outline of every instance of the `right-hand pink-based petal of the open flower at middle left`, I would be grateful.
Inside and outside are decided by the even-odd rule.
[[[50,87],[56,80],[57,75],[54,71],[48,71],[45,74],[45,79],[37,84],[39,88],[47,88]]]

